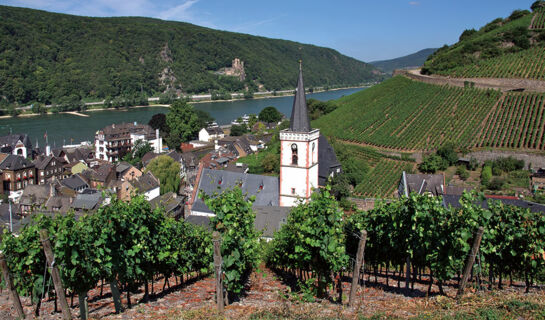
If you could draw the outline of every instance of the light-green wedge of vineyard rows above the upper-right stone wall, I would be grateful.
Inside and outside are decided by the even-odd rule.
[[[437,72],[460,78],[520,78],[545,80],[545,47],[534,47],[474,64]]]

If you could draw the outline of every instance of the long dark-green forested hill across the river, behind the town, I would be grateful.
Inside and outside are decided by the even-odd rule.
[[[332,49],[150,18],[88,18],[0,6],[0,43],[4,104],[157,95],[167,89],[287,89],[295,85],[299,59],[307,86],[383,77]],[[234,58],[244,62],[244,80],[218,72]]]

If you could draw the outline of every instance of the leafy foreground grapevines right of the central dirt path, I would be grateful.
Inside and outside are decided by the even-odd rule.
[[[490,202],[485,210],[478,200],[475,194],[464,194],[461,208],[445,208],[440,197],[412,194],[357,212],[343,224],[339,207],[324,191],[292,210],[266,260],[272,268],[292,274],[302,288],[317,286],[319,295],[321,286],[333,283],[332,274],[342,273],[343,266],[351,270],[365,230],[369,278],[374,274],[376,279],[379,268],[385,268],[386,277],[393,269],[398,286],[404,281],[407,289],[414,289],[425,273],[428,294],[433,285],[444,294],[445,287],[459,285],[471,243],[483,227],[471,277],[489,289],[496,283],[501,289],[506,275],[511,281],[524,279],[528,292],[532,283],[545,279],[545,216],[499,202]]]

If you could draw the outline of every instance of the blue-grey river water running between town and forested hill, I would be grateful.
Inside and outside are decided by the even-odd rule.
[[[362,88],[342,89],[307,94],[308,98],[322,101],[338,99],[360,91]],[[195,103],[195,109],[208,111],[217,123],[229,124],[232,120],[244,114],[258,114],[263,108],[274,106],[286,116],[290,116],[293,105],[293,96],[251,99],[222,102]],[[127,110],[105,110],[84,112],[89,117],[71,114],[50,114],[33,117],[19,117],[0,119],[0,135],[26,133],[33,145],[36,141],[44,146],[44,135],[47,132],[49,143],[60,147],[64,144],[74,144],[81,141],[94,141],[95,132],[112,123],[139,122],[148,123],[156,113],[167,113],[166,107],[145,107]]]

